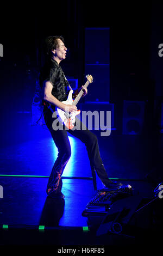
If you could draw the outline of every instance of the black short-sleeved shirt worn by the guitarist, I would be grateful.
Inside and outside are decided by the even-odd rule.
[[[40,71],[39,82],[41,88],[44,81],[51,82],[53,86],[52,95],[59,101],[67,99],[67,81],[60,65],[54,59],[49,59]]]

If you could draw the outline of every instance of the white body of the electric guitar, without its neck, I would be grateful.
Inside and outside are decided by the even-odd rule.
[[[73,90],[70,90],[67,100],[66,101],[62,101],[62,103],[66,104],[66,105],[72,105],[73,103],[73,99],[72,99],[72,93]],[[76,112],[65,112],[63,110],[61,110],[60,108],[56,109],[56,112],[59,116],[59,120],[61,123],[63,123],[68,129],[73,129],[75,121],[76,121],[76,115],[80,114],[80,110],[76,111]]]

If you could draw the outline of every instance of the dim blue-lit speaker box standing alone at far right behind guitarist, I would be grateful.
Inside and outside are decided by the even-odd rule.
[[[145,115],[144,101],[123,101],[124,135],[137,135],[142,132]]]

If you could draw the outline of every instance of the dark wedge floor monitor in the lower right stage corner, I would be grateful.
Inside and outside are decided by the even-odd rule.
[[[159,238],[163,226],[161,212],[162,202],[158,197],[143,198],[137,194],[118,200],[103,217],[96,234],[129,235],[139,241],[144,239],[145,235],[151,239],[151,234]]]

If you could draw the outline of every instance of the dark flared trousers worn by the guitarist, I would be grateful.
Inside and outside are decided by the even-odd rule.
[[[44,110],[44,118],[45,123],[51,132],[53,137],[53,141],[58,148],[58,157],[55,160],[51,175],[49,176],[48,185],[47,185],[47,193],[50,191],[61,191],[62,188],[62,180],[61,175],[64,172],[66,167],[66,163],[70,159],[71,156],[71,146],[70,141],[68,139],[66,130],[53,130],[52,123],[55,120],[52,118],[52,112],[45,108]],[[84,130],[68,130],[74,137],[77,137],[86,145],[87,154],[89,156],[91,168],[95,168],[97,175],[103,182],[105,186],[107,186],[111,181],[108,179],[108,174],[104,168],[104,164],[102,162],[97,137],[94,133],[89,131],[87,127],[77,119],[78,125],[80,127],[84,127]]]

